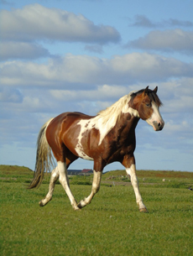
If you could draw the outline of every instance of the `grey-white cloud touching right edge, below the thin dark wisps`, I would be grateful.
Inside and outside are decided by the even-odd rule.
[[[143,50],[177,51],[183,54],[193,54],[193,31],[182,29],[155,30],[143,38],[128,43],[128,47]]]

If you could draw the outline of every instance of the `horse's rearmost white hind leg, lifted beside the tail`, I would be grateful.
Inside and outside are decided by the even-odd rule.
[[[44,199],[39,201],[39,206],[45,206],[49,201],[51,201],[53,192],[55,190],[55,182],[58,180],[58,178],[59,178],[59,170],[57,167],[55,167],[55,169],[52,170],[51,172],[49,192]]]

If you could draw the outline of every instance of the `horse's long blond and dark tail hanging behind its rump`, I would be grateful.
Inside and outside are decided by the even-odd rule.
[[[32,180],[31,184],[29,185],[29,189],[33,189],[34,187],[39,187],[39,185],[41,185],[44,178],[44,172],[50,170],[50,165],[53,164],[51,148],[45,135],[46,128],[52,119],[53,118],[51,118],[47,123],[44,123],[43,127],[39,131],[34,180]]]

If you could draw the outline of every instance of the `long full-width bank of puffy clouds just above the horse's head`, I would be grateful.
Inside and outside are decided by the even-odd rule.
[[[170,77],[193,76],[192,74],[192,64],[161,55],[133,53],[116,55],[112,59],[65,55],[43,64],[22,61],[2,63],[0,81],[4,86],[84,90],[104,83],[131,85],[135,82],[165,81]]]

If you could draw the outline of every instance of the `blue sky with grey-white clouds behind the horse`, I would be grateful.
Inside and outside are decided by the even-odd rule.
[[[192,10],[192,0],[1,0],[0,164],[34,170],[50,118],[96,115],[130,91],[158,86],[165,125],[154,132],[139,121],[137,170],[193,171]]]

